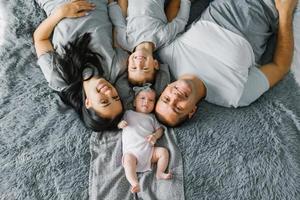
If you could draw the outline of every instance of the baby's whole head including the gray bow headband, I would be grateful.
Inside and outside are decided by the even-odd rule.
[[[134,87],[135,98],[133,105],[135,111],[141,113],[151,113],[155,106],[155,91],[150,87],[151,84],[146,83],[142,87]]]

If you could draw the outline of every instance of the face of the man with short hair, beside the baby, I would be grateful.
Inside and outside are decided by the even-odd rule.
[[[169,84],[160,95],[155,112],[169,126],[175,126],[182,118],[190,118],[196,111],[196,88],[192,81],[181,79]]]

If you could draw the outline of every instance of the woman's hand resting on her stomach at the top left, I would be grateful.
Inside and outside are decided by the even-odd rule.
[[[65,3],[56,10],[56,14],[63,18],[76,18],[88,15],[89,11],[94,10],[95,4],[86,0],[72,0]]]

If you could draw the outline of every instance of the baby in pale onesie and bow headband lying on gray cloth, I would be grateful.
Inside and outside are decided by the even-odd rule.
[[[163,128],[151,113],[155,104],[155,91],[150,86],[145,84],[143,87],[134,87],[135,111],[126,111],[124,120],[118,124],[123,129],[122,163],[132,193],[140,191],[136,172],[151,170],[151,163],[157,163],[157,179],[172,178],[171,173],[165,173],[169,162],[168,150],[154,147],[163,134]]]

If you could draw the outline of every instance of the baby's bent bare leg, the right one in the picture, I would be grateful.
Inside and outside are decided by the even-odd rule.
[[[153,155],[151,159],[152,163],[157,162],[157,179],[170,179],[172,178],[171,173],[165,173],[169,162],[169,152],[166,148],[163,147],[154,147]]]

